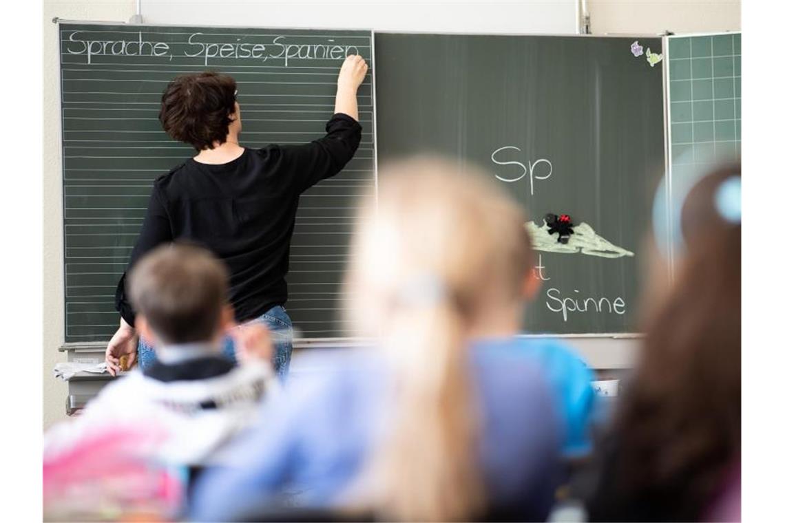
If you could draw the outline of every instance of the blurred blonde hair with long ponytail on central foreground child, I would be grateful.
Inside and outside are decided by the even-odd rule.
[[[520,302],[531,270],[524,212],[492,177],[436,158],[386,169],[364,201],[349,271],[353,325],[394,369],[387,438],[363,480],[391,518],[466,519],[486,508],[467,329]]]

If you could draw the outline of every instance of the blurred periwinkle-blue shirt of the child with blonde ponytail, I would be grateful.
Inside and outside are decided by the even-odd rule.
[[[568,429],[558,412],[566,401],[553,391],[571,389],[562,370],[544,369],[571,368],[565,363],[571,355],[555,348],[554,363],[550,354],[543,357],[546,345],[535,343],[528,350],[527,342],[476,343],[471,375],[489,503],[544,520],[560,481]],[[203,473],[192,491],[192,518],[236,517],[250,507],[276,503],[282,492],[298,492],[303,506],[329,507],[352,486],[388,421],[383,361],[372,350],[347,350],[308,354],[298,363],[316,369],[314,376],[300,378],[301,383],[291,376],[290,389],[261,418],[265,425],[240,438],[222,459],[224,466]],[[560,387],[550,382],[552,376]]]

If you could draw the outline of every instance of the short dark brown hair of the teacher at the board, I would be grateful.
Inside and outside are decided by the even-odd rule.
[[[174,78],[161,96],[163,130],[196,151],[224,143],[235,112],[235,79],[206,71]]]

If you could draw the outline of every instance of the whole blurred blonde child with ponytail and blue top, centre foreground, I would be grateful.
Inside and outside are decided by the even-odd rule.
[[[195,519],[274,520],[284,505],[337,520],[547,517],[591,376],[555,342],[515,337],[533,254],[523,212],[491,180],[434,159],[382,174],[347,276],[349,330],[377,342],[305,357],[318,372],[205,472]]]

